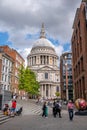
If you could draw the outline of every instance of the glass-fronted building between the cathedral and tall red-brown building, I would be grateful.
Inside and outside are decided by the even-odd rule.
[[[63,100],[73,99],[71,52],[65,52],[60,57],[60,88]]]

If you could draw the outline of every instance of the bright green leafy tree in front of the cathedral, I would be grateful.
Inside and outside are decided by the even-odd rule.
[[[39,82],[36,80],[35,73],[28,67],[21,66],[19,69],[19,89],[34,95],[39,94]]]

